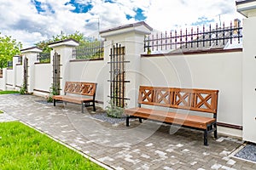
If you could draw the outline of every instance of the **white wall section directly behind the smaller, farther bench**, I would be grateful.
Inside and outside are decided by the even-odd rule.
[[[104,84],[108,82],[108,77],[104,77],[104,69],[109,67],[103,60],[75,61],[69,63],[69,78],[67,81],[73,82],[96,82],[96,100],[103,101]],[[64,75],[67,75],[64,73]]]

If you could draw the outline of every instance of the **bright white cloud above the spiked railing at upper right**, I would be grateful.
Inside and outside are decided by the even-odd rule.
[[[151,0],[146,12],[147,21],[150,26],[161,31],[171,30],[175,26],[191,26],[203,16],[208,20],[214,20],[214,23],[219,22],[220,16],[222,22],[228,21],[230,24],[230,20],[241,18],[236,12],[235,2],[235,0]]]

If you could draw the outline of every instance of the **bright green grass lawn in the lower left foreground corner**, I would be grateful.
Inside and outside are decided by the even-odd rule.
[[[0,169],[103,168],[21,122],[2,122]]]

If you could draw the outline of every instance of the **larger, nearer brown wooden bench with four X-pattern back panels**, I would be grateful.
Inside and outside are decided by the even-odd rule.
[[[136,108],[125,109],[127,127],[129,119],[135,117],[139,118],[139,122],[142,122],[142,119],[150,119],[202,130],[204,131],[205,145],[208,145],[208,133],[214,132],[214,138],[217,139],[218,90],[141,86],[138,104],[139,106]],[[143,108],[142,105],[156,105],[189,111],[184,113],[160,111]],[[190,111],[196,111],[196,116],[189,114]],[[206,112],[207,115],[211,113],[211,117],[206,113],[202,116],[202,112]]]

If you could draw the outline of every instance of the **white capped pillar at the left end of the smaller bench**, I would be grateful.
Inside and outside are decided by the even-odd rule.
[[[73,39],[62,40],[59,42],[49,43],[49,48],[53,48],[50,52],[50,63],[53,65],[53,56],[54,54],[61,55],[61,73],[60,73],[60,94],[64,94],[63,88],[65,86],[65,82],[69,81],[69,61],[72,59],[73,48],[79,46],[79,42],[76,42]],[[53,72],[53,67],[51,67]],[[51,75],[53,77],[53,75]]]

